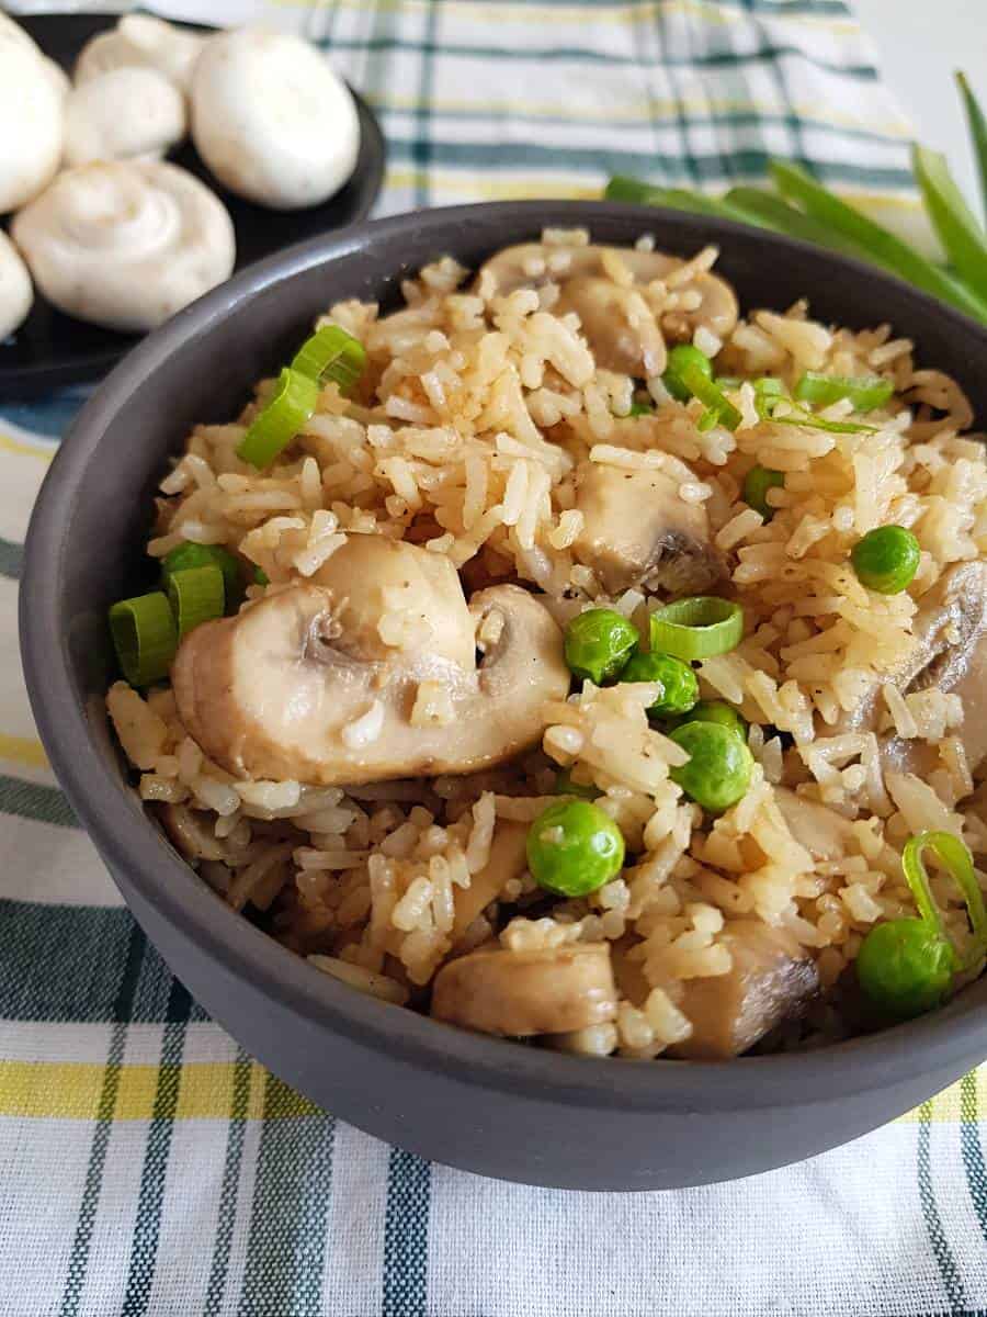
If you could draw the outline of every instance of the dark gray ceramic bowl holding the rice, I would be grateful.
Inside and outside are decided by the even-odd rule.
[[[45,481],[21,591],[24,665],[55,772],[175,973],[250,1052],[316,1102],[451,1166],[529,1184],[655,1189],[725,1180],[853,1139],[987,1055],[987,979],[946,1009],[804,1055],[586,1060],[397,1010],[320,975],[234,914],[128,786],[103,711],[107,606],[146,587],[150,499],[190,425],[233,415],[338,298],[395,302],[451,253],[475,266],[544,224],[662,249],[722,248],[745,307],[808,295],[824,320],[890,320],[987,417],[987,333],[895,279],[749,228],[596,203],[505,203],[382,220],[257,265],[151,335],[87,404]]]

